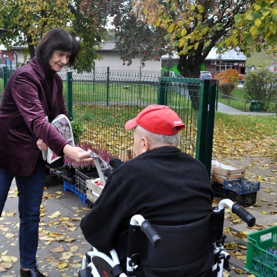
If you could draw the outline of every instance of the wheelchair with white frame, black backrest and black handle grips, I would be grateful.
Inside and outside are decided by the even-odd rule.
[[[231,271],[224,251],[224,207],[229,206],[248,226],[255,217],[238,203],[222,199],[206,218],[181,226],[151,224],[141,215],[129,223],[127,264],[120,265],[114,249],[102,253],[92,247],[82,258],[79,277],[222,277]]]

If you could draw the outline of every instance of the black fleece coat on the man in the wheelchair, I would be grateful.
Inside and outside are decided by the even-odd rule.
[[[200,161],[178,148],[157,148],[111,173],[80,227],[93,247],[102,252],[116,249],[124,263],[132,215],[141,214],[153,224],[187,224],[211,213],[212,201],[208,173]]]

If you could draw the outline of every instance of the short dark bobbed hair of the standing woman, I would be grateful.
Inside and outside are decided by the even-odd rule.
[[[67,65],[73,66],[81,50],[81,46],[67,30],[63,28],[53,28],[48,30],[39,44],[37,44],[35,55],[37,60],[41,60],[44,64],[48,64],[48,60],[50,60],[55,50],[71,52]]]

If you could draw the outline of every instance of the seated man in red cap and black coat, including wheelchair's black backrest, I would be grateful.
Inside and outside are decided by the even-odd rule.
[[[204,165],[177,148],[184,127],[175,111],[163,105],[150,105],[127,121],[125,129],[134,129],[136,157],[111,172],[80,223],[84,238],[98,251],[116,250],[124,271],[127,251],[139,253],[134,256],[138,266],[127,276],[211,276],[213,190]],[[160,249],[143,233],[129,231],[137,214],[157,228]]]

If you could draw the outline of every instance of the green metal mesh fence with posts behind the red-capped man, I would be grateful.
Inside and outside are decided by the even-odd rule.
[[[148,105],[168,105],[186,124],[180,132],[179,148],[211,170],[215,80],[161,77],[160,73],[109,67],[92,73],[63,72],[60,76],[69,118],[84,129],[80,143],[117,157],[124,150],[132,150],[132,131],[124,129],[125,122]]]

